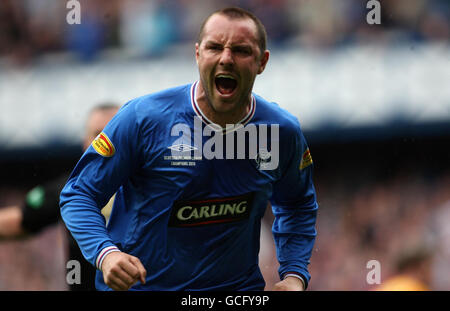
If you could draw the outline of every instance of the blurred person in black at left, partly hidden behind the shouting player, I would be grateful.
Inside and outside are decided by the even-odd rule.
[[[83,150],[86,150],[95,137],[118,111],[119,106],[105,103],[94,107],[85,126]],[[34,187],[30,190],[21,206],[8,206],[0,209],[0,239],[28,237],[37,234],[47,226],[61,219],[59,196],[68,175]],[[102,210],[109,217],[111,203]],[[77,260],[81,265],[80,284],[70,284],[70,290],[95,290],[95,268],[88,263],[78,245],[68,233],[68,260]]]

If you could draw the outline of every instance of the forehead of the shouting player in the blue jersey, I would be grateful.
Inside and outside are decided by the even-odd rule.
[[[208,40],[223,44],[257,44],[255,22],[247,17],[229,18],[221,14],[215,14],[209,18],[203,29],[202,41]]]

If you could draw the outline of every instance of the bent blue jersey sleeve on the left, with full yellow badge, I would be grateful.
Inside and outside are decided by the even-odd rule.
[[[127,103],[82,155],[60,196],[61,216],[83,256],[100,268],[118,250],[101,209],[140,163],[139,122]]]

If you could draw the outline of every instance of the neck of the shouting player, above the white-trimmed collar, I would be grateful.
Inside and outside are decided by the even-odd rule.
[[[206,95],[201,82],[197,84],[197,90],[195,94],[195,100],[201,112],[213,123],[220,125],[222,128],[226,128],[229,124],[237,124],[241,121],[251,109],[251,94],[240,103],[235,105],[235,109],[230,111],[217,111],[214,109],[210,99]]]

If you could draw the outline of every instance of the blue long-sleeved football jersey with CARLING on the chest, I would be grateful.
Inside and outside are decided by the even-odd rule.
[[[316,236],[312,158],[295,117],[253,94],[248,114],[218,128],[197,82],[126,103],[83,154],[61,215],[99,268],[110,251],[138,257],[133,290],[262,290],[261,218],[268,202],[280,277],[308,282]],[[100,213],[116,193],[108,225]],[[100,271],[96,287],[108,290]]]

